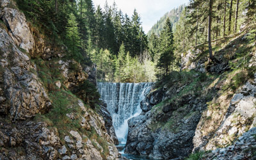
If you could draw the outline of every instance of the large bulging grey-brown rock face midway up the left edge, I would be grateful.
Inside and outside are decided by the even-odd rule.
[[[51,107],[51,102],[29,57],[16,47],[8,33],[0,28],[2,113],[10,112],[13,120],[31,118]],[[9,105],[7,105],[9,104]]]

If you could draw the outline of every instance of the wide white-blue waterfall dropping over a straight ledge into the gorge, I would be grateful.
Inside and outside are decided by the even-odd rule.
[[[153,83],[97,83],[101,99],[108,105],[116,136],[126,143],[128,120],[141,113],[140,102]]]

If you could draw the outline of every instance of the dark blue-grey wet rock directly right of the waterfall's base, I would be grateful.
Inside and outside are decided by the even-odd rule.
[[[171,86],[170,89],[176,92],[176,88]],[[160,111],[152,109],[152,106],[157,105],[164,99],[164,96],[167,95],[166,92],[169,92],[169,90],[159,89],[149,93],[141,102],[141,109],[143,110],[141,115],[128,120],[129,132],[125,153],[149,155],[152,158],[162,159],[182,158],[191,153],[193,150],[193,136],[195,136],[196,125],[200,120],[200,108],[195,107],[195,110],[192,107],[189,108],[193,114],[185,117],[188,109],[179,106],[189,103],[201,106],[202,102],[198,102],[199,100],[188,95],[188,97],[181,97],[178,102],[164,104],[161,110],[159,109]],[[172,95],[170,96],[172,97]],[[161,123],[166,123],[168,120],[175,118],[172,117],[173,111],[183,113],[184,118],[177,122],[179,127],[172,130],[164,129],[164,127],[161,127]],[[160,127],[157,125],[160,125]],[[169,126],[166,125],[166,127]]]

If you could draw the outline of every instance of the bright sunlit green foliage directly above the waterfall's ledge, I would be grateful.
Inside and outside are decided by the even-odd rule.
[[[107,49],[90,52],[93,63],[97,65],[98,81],[116,81],[126,83],[155,81],[155,64],[148,52],[143,52],[139,57],[133,58],[125,52],[125,46],[120,46],[118,56],[112,56]]]

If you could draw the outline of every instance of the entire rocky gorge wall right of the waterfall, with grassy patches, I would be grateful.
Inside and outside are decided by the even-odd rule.
[[[237,54],[248,58],[250,69],[230,67],[243,60]],[[253,159],[254,141],[236,141],[256,127],[255,54],[243,34],[215,52],[216,63],[200,50],[184,55],[183,70],[157,83],[141,102],[141,115],[129,120],[125,153],[173,159],[213,150],[204,158]],[[225,153],[218,149],[234,143]],[[252,152],[243,154],[245,148]]]

